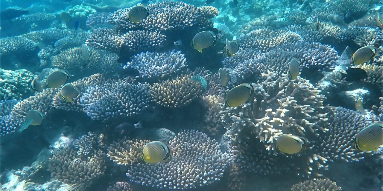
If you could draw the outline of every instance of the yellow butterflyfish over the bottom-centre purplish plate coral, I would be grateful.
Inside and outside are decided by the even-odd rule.
[[[152,141],[145,145],[141,159],[146,163],[168,163],[172,160],[172,149],[161,141]]]

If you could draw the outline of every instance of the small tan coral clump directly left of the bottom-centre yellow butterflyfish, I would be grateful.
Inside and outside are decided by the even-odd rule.
[[[141,153],[144,146],[150,141],[138,140],[127,138],[119,141],[113,141],[113,144],[108,147],[108,153],[106,154],[110,160],[125,166],[131,166],[141,160]]]

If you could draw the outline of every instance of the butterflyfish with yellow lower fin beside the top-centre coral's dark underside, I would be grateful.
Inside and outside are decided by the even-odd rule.
[[[217,36],[213,31],[198,32],[191,41],[191,47],[202,52],[202,49],[213,47],[217,44]]]

